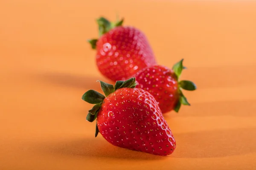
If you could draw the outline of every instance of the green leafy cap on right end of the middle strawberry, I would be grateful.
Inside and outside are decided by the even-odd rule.
[[[176,76],[177,76],[177,81],[179,83],[179,101],[177,102],[174,111],[178,113],[178,111],[180,110],[180,106],[182,105],[189,105],[188,100],[186,99],[186,97],[184,96],[184,94],[182,93],[182,89],[184,90],[188,90],[188,91],[194,91],[196,89],[196,85],[189,81],[189,80],[181,80],[179,81],[180,75],[183,71],[183,69],[186,69],[186,67],[183,66],[183,59],[181,59],[179,62],[177,62],[173,67],[172,70],[175,72]]]

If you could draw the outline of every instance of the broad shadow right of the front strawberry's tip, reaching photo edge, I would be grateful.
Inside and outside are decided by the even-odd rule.
[[[255,153],[254,136],[256,128],[176,134],[177,147],[173,157],[212,158]]]

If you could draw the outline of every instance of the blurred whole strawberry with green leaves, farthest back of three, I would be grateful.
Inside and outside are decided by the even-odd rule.
[[[137,28],[110,23],[101,17],[99,39],[88,40],[96,48],[99,71],[113,81],[131,78],[137,71],[156,63],[147,38]]]

